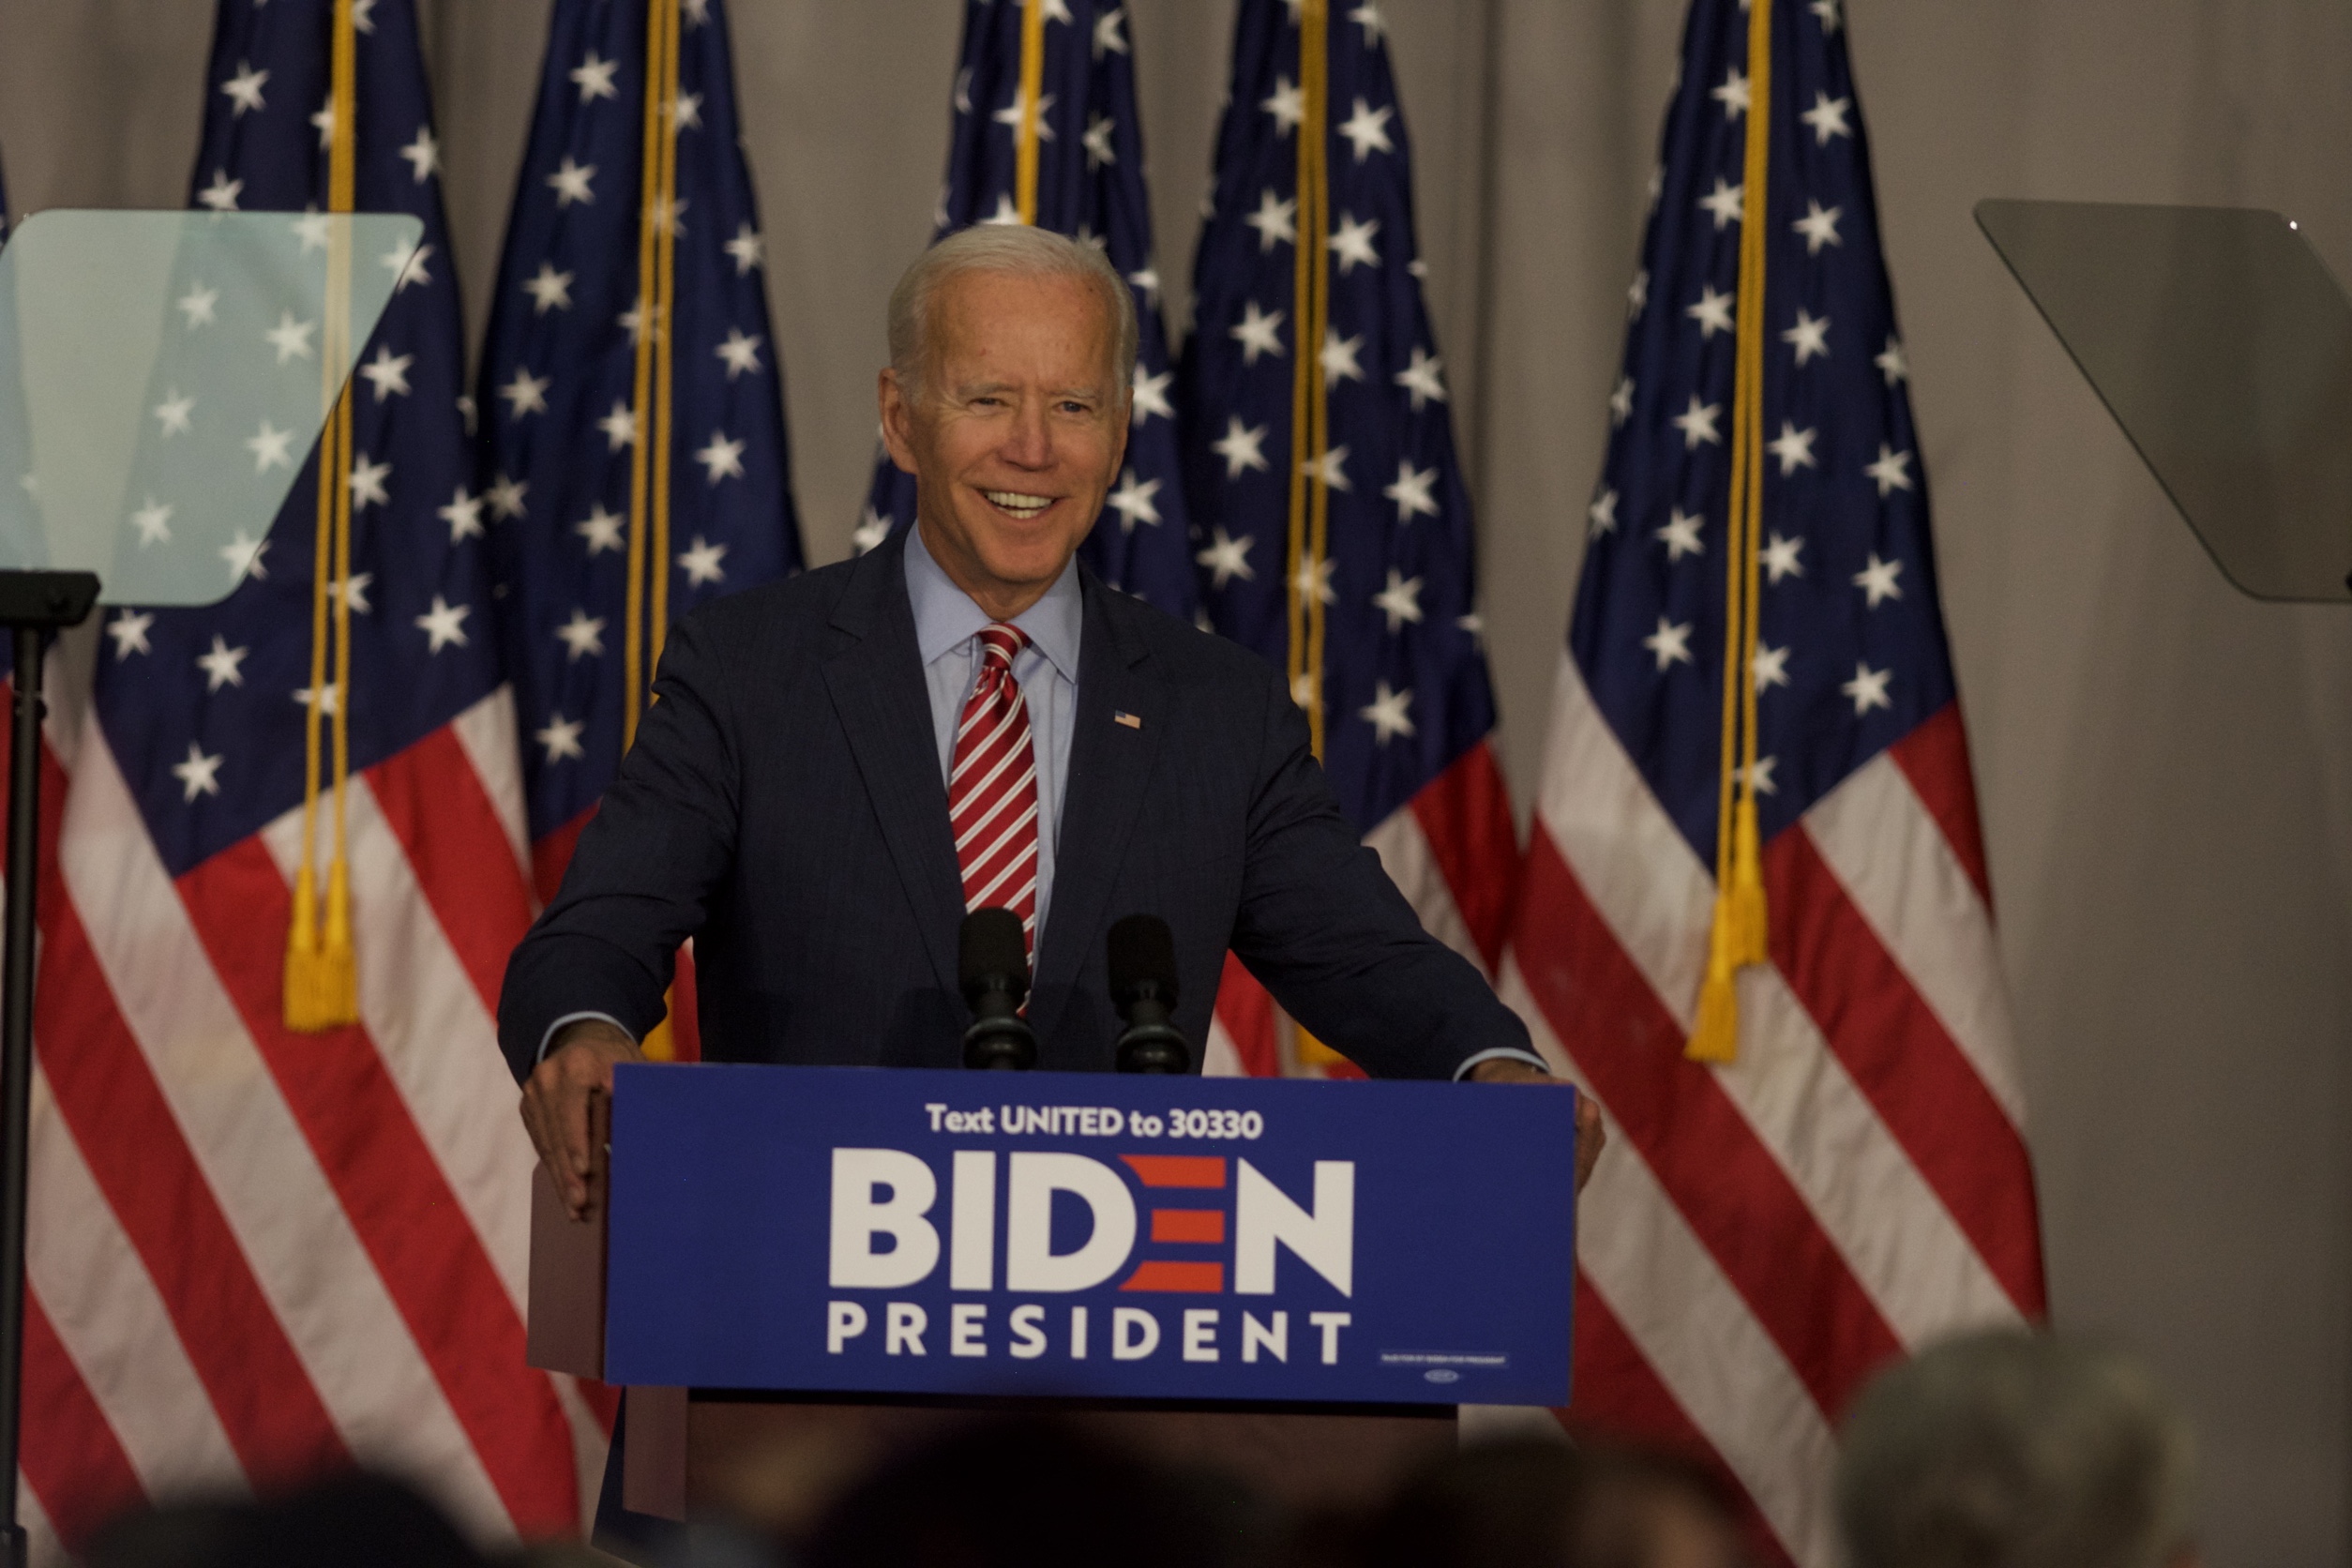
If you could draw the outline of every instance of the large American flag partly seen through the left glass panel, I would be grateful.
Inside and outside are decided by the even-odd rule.
[[[355,207],[423,221],[419,247],[353,261],[397,280],[353,383],[348,470],[360,1020],[285,1023],[320,701],[303,468],[275,527],[209,564],[238,583],[221,604],[106,611],[89,717],[52,731],[24,1441],[49,1559],[125,1500],[350,1460],[423,1479],[485,1535],[564,1533],[602,1458],[572,1382],[522,1363],[534,1157],[492,1016],[529,882],[440,143],[412,0],[343,2],[355,101],[329,89],[336,5],[223,0],[193,190],[296,214],[299,254],[318,233],[299,214],[332,205],[329,148],[355,134]],[[212,343],[233,322],[188,284],[162,306],[169,442],[303,463],[188,371],[252,355],[315,393],[315,322]]]

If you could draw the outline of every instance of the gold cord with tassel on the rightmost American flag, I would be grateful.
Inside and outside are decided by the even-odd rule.
[[[1764,531],[1764,214],[1771,169],[1771,0],[1748,12],[1748,148],[1740,183],[1740,280],[1731,381],[1731,491],[1724,520],[1724,722],[1715,809],[1715,914],[1693,1063],[1738,1060],[1738,971],[1769,959],[1757,825],[1757,597]]]

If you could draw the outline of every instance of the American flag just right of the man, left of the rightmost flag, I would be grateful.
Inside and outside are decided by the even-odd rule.
[[[1319,52],[1308,31],[1324,35]],[[1317,118],[1308,150],[1322,169],[1301,190]],[[1178,378],[1202,597],[1216,630],[1294,670],[1341,804],[1421,922],[1491,973],[1517,842],[1489,745],[1470,496],[1376,5],[1242,0],[1211,205]],[[1296,296],[1315,256],[1322,306]],[[1308,310],[1322,313],[1319,339],[1301,334]],[[1294,430],[1294,404],[1312,421],[1298,371],[1317,367],[1322,442]],[[1312,470],[1303,510],[1327,489],[1319,552],[1310,529],[1291,538],[1301,470]],[[1279,1072],[1272,1006],[1230,959],[1207,1060]]]

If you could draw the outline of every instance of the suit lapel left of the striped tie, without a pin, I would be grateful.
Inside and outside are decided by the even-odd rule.
[[[833,712],[849,736],[849,752],[915,905],[922,945],[941,985],[953,992],[964,879],[955,867],[931,693],[915,651],[915,611],[906,599],[903,534],[858,562],[833,609],[833,628],[837,646],[826,656]]]

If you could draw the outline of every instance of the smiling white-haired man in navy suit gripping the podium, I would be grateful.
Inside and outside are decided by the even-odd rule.
[[[1077,559],[1127,447],[1136,315],[1089,244],[969,228],[889,306],[882,433],[917,527],[670,635],[633,750],[515,950],[499,1037],[586,1213],[590,1103],[696,938],[713,1060],[953,1067],[967,910],[1023,922],[1037,1065],[1108,1070],[1105,931],[1176,938],[1204,1039],[1225,950],[1376,1077],[1545,1081],[1421,929],[1256,654]],[[1581,1107],[1581,1171],[1599,1150]]]

